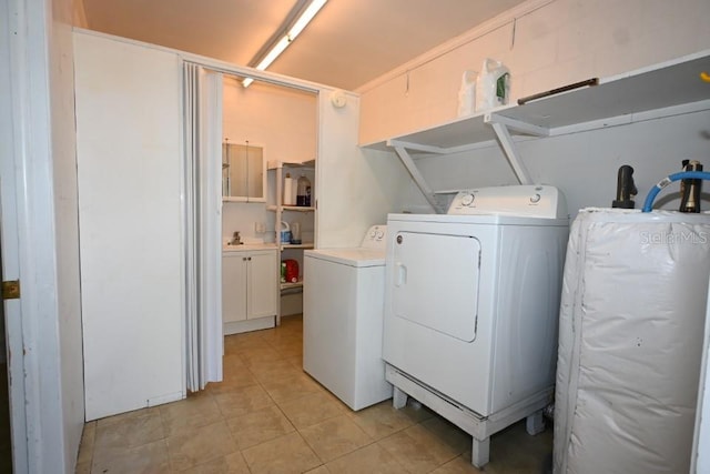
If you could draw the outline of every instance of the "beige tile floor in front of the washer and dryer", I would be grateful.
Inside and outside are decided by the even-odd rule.
[[[225,337],[224,382],[84,425],[77,473],[478,473],[470,436],[426,407],[353,412],[302,371],[301,316]],[[491,437],[486,473],[541,473],[548,428]]]

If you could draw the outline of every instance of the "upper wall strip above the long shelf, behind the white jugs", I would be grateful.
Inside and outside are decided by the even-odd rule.
[[[516,20],[517,19],[517,20]],[[465,70],[511,71],[511,100],[707,49],[707,0],[530,0],[361,88],[359,142],[456,117]]]

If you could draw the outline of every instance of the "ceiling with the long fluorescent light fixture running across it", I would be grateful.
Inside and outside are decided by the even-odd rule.
[[[298,1],[83,0],[83,4],[91,30],[248,65]],[[268,70],[356,90],[523,1],[329,0]]]

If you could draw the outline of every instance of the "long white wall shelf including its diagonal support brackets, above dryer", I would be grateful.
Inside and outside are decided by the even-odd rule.
[[[710,72],[710,50],[600,79],[598,85],[505,105],[361,147],[395,151],[429,204],[443,212],[436,193],[416,168],[417,155],[457,153],[497,141],[518,181],[529,183],[516,138],[554,137],[710,110],[710,83],[700,79],[703,71]]]

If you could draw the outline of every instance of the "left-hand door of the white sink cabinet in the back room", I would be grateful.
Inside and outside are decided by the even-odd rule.
[[[222,256],[222,322],[246,319],[246,252]]]

